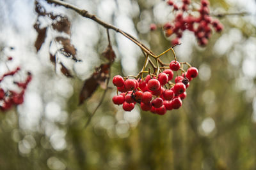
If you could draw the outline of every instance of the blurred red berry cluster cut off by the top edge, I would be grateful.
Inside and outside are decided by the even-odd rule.
[[[198,17],[189,14],[189,4],[190,0],[182,0],[182,5],[178,6],[173,0],[167,1],[168,5],[173,7],[175,12],[175,19],[172,24],[169,22],[164,24],[163,29],[167,37],[175,34],[176,37],[172,39],[172,44],[177,45],[180,43],[180,38],[182,38],[182,33],[185,30],[194,32],[199,45],[207,45],[208,39],[211,37],[212,29],[216,32],[221,32],[223,30],[223,25],[218,19],[212,19],[209,15],[209,1],[201,0],[200,8],[196,11],[200,14]],[[156,29],[156,25],[150,25],[150,29],[153,31]]]

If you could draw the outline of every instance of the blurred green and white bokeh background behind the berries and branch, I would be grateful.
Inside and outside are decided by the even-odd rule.
[[[191,32],[184,32],[182,45],[175,47],[177,58],[198,67],[199,76],[191,82],[182,108],[164,116],[138,106],[125,112],[111,102],[115,89],[109,83],[112,89],[86,129],[104,89],[99,87],[81,106],[79,91],[94,67],[104,62],[106,30],[73,11],[40,2],[68,16],[71,40],[83,62],[66,63],[76,78],[55,71],[49,61],[54,31],[47,32],[40,52],[33,46],[34,1],[0,1],[1,71],[6,69],[4,56],[12,56],[8,67],[20,66],[33,74],[24,103],[0,112],[0,169],[256,169],[255,1],[211,1],[212,14],[251,15],[220,18],[224,31],[214,33],[205,47],[197,45]],[[170,47],[173,37],[165,38],[162,29],[150,32],[149,27],[173,19],[164,1],[67,2],[129,32],[155,53]],[[193,2],[196,6],[199,1]],[[144,61],[140,48],[110,33],[116,53],[111,78],[138,73]],[[172,54],[163,60],[172,60]]]

